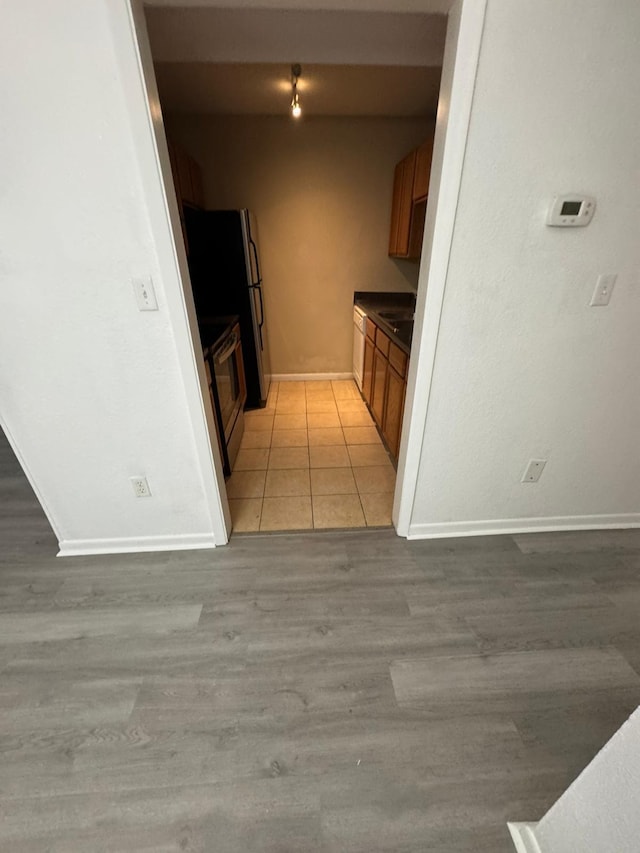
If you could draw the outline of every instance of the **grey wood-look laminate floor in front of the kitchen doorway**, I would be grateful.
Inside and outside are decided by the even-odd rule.
[[[12,853],[513,853],[640,702],[640,533],[55,550],[0,443]]]

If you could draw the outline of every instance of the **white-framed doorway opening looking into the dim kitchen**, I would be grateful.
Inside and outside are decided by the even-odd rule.
[[[233,530],[390,526],[411,336],[403,346],[397,320],[383,309],[401,308],[412,318],[415,308],[430,159],[424,194],[414,197],[413,185],[418,153],[425,143],[430,152],[433,141],[446,17],[356,14],[370,28],[371,51],[376,28],[404,19],[405,38],[396,36],[402,61],[386,56],[385,65],[374,65],[366,60],[366,38],[352,64],[336,62],[348,42],[345,29],[355,24],[353,14],[341,12],[318,13],[324,36],[317,15],[311,21],[312,13],[296,13],[295,25],[309,33],[315,26],[314,49],[329,51],[324,58],[332,62],[317,53],[311,63],[286,56],[277,40],[270,47],[269,28],[291,24],[291,15],[275,10],[251,22],[267,46],[257,57],[264,61],[250,61],[262,48],[246,34],[247,14],[258,13],[146,9],[197,310],[202,288],[219,297],[224,277],[215,274],[219,255],[197,271],[190,217],[252,210],[260,232],[262,277],[253,280],[250,250],[239,248],[249,286],[262,285],[260,306],[255,290],[244,325],[224,299],[218,310],[198,310],[201,335],[207,321],[240,319],[247,377],[251,318],[259,320],[256,341],[262,336],[256,349],[265,350],[267,381],[261,395],[247,399],[241,439],[229,448],[216,389],[220,341],[202,337]],[[407,24],[422,33],[413,44],[421,64],[407,64]],[[172,38],[176,32],[181,38]],[[288,114],[291,59],[302,63],[301,121]],[[356,383],[358,295],[372,307]]]

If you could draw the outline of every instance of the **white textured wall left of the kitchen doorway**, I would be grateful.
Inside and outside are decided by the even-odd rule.
[[[222,542],[128,4],[16,2],[2,18],[3,425],[63,553]],[[143,275],[158,312],[136,308]],[[151,498],[133,496],[137,474]]]

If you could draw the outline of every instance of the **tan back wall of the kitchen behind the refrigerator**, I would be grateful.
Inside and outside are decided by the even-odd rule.
[[[273,372],[350,372],[353,291],[416,286],[418,264],[387,255],[391,192],[429,122],[176,116],[167,127],[202,165],[210,208],[256,213]]]

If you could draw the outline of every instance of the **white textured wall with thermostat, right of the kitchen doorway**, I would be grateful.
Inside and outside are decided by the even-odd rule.
[[[488,2],[412,535],[640,523],[638,32],[635,0]],[[545,227],[569,191],[591,225]]]

